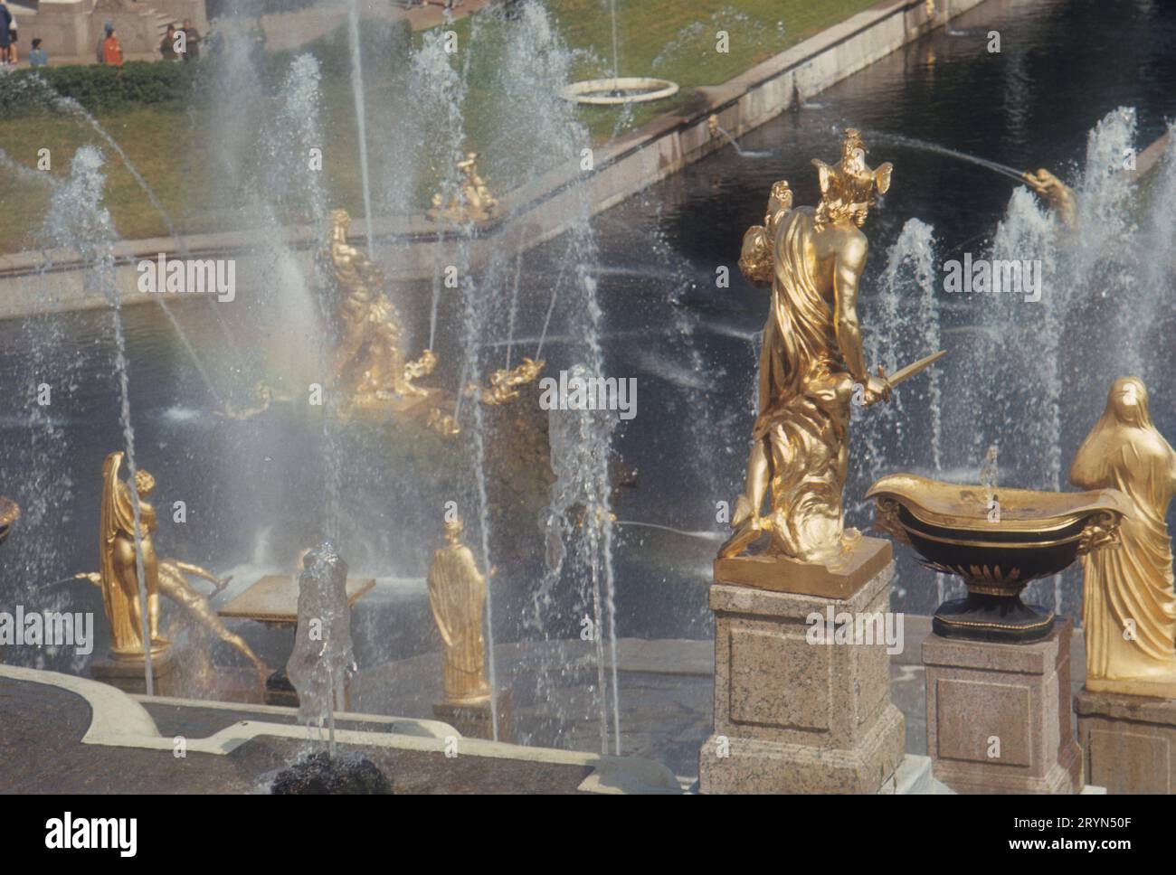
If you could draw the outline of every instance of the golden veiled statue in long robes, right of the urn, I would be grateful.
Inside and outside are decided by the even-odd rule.
[[[1176,452],[1151,424],[1148,390],[1116,379],[1107,409],[1070,467],[1078,489],[1117,489],[1131,504],[1122,546],[1082,558],[1087,688],[1176,698],[1176,595],[1164,520],[1176,494]]]

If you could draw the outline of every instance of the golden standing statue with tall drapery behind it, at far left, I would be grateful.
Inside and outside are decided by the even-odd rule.
[[[119,477],[122,453],[112,452],[102,463],[102,510],[99,520],[99,568],[102,604],[111,624],[114,659],[141,660],[142,603],[139,598],[139,563],[135,551],[134,499],[127,484]],[[140,469],[135,472],[139,493],[139,532],[142,546],[143,580],[147,588],[147,621],[152,655],[165,653],[171,642],[159,635],[159,564],[152,532],[155,531],[155,509],[147,498],[155,489],[155,478]]]

